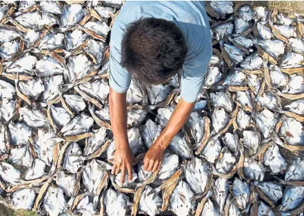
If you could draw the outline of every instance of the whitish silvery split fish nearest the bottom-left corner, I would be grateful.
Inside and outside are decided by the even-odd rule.
[[[16,209],[30,210],[34,206],[35,198],[36,195],[32,188],[22,189],[12,194],[12,205]]]

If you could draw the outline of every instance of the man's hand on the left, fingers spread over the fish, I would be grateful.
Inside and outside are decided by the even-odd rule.
[[[125,173],[128,171],[128,180],[132,180],[132,166],[134,165],[134,155],[130,147],[119,147],[114,153],[112,174],[117,175],[121,171],[121,183],[125,182]]]

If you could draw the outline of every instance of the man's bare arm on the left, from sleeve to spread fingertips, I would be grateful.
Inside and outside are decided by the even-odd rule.
[[[121,171],[121,182],[125,180],[128,171],[129,180],[132,180],[132,166],[134,155],[129,147],[127,133],[127,103],[126,93],[119,94],[110,87],[109,107],[112,131],[115,138],[115,155],[112,174]]]

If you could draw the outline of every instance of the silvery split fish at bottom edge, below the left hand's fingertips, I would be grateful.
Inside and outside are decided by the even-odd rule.
[[[125,215],[129,198],[123,193],[108,188],[105,192],[105,213],[108,216]]]

